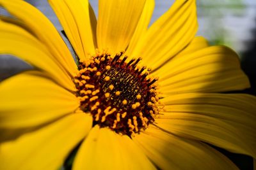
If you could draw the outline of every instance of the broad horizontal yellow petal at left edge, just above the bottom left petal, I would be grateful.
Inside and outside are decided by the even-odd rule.
[[[38,71],[27,71],[0,84],[0,127],[22,128],[45,124],[73,113],[77,97]]]

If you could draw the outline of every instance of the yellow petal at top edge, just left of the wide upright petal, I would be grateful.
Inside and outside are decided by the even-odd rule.
[[[49,0],[78,57],[95,54],[96,18],[88,0]],[[91,21],[92,20],[92,21]]]

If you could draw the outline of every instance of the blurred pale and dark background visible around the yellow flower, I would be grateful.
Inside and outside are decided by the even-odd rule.
[[[6,0],[7,1],[7,0]],[[61,31],[58,18],[54,15],[47,0],[26,0],[42,11]],[[152,22],[168,10],[174,0],[156,0]],[[90,0],[97,15],[96,0]],[[212,45],[227,45],[239,53],[241,67],[249,76],[252,88],[245,90],[256,95],[256,1],[255,0],[197,0],[199,29],[197,35],[204,36]],[[1,15],[8,15],[0,8]],[[71,48],[70,48],[71,49]],[[10,55],[0,56],[0,81],[12,74],[29,69],[22,62]],[[221,150],[232,159],[240,169],[253,169],[252,158],[245,155],[232,154]]]

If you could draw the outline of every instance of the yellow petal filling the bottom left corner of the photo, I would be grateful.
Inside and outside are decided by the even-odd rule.
[[[92,117],[74,113],[0,145],[0,169],[58,169],[92,127]]]

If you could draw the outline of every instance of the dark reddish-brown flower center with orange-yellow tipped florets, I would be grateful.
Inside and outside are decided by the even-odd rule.
[[[74,82],[80,108],[92,114],[93,125],[130,136],[154,122],[158,97],[157,79],[148,78],[148,69],[137,66],[141,59],[126,60],[119,53],[80,62]]]

